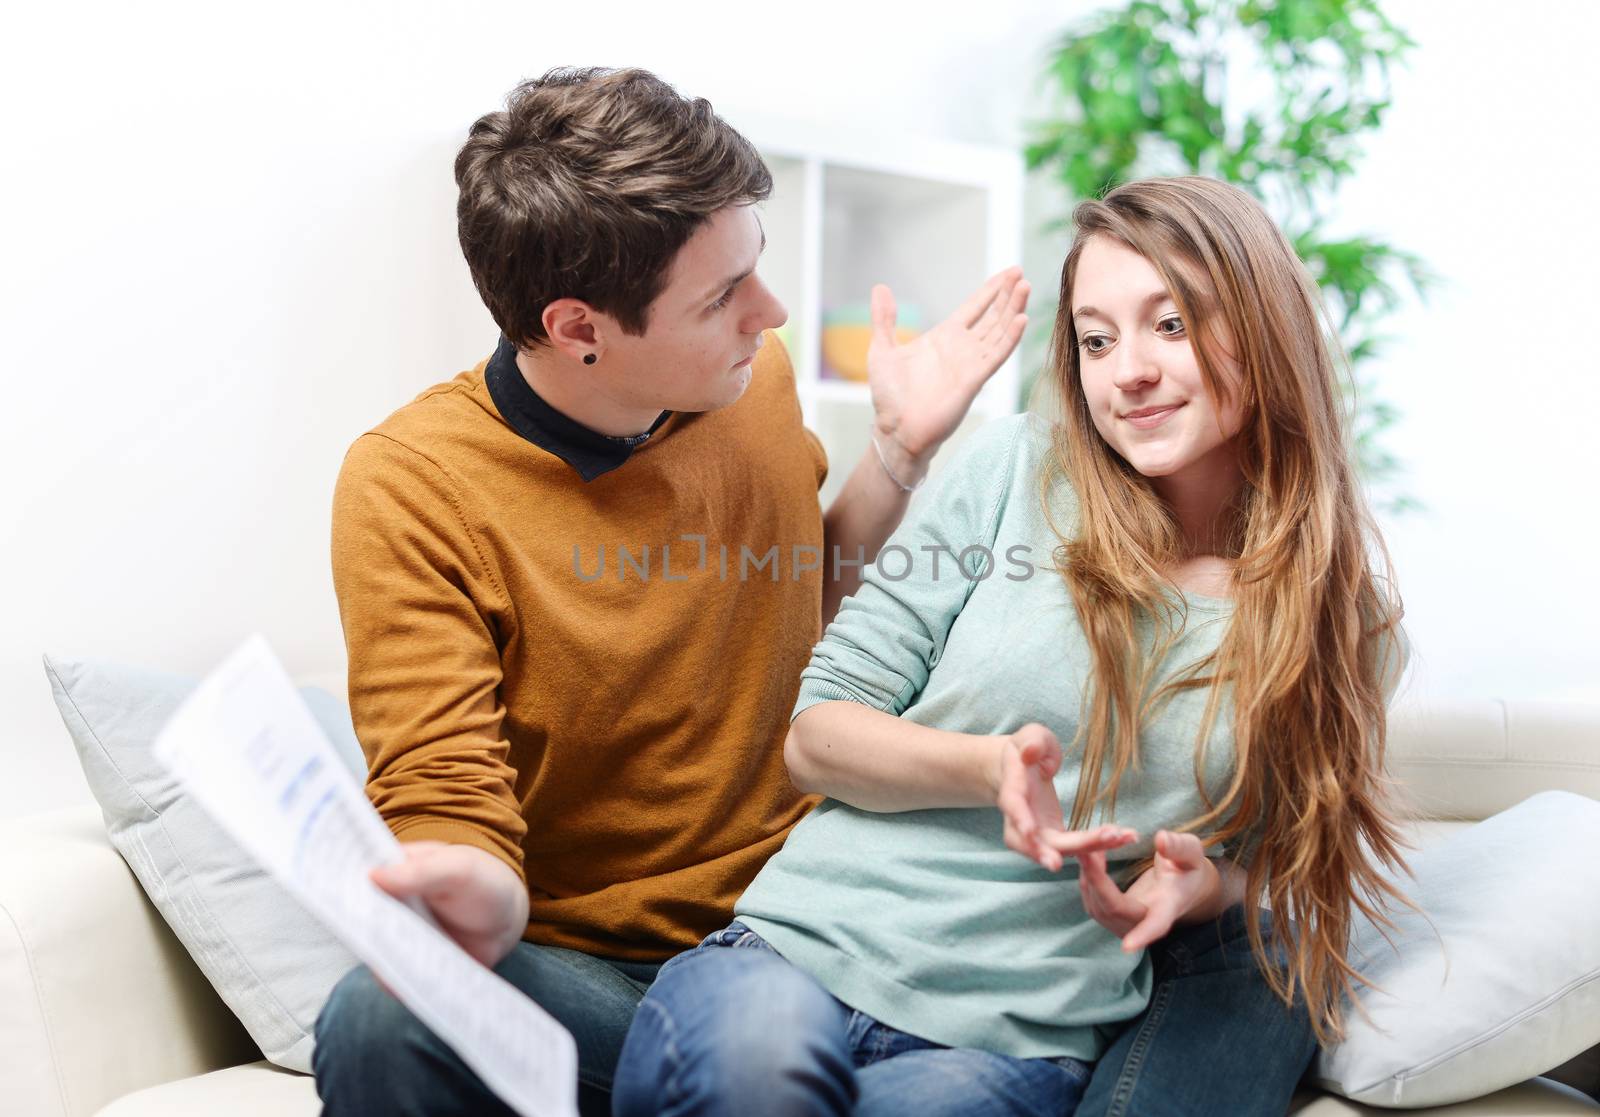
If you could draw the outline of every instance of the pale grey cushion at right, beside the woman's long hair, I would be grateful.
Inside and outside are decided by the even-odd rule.
[[[1416,882],[1397,883],[1427,919],[1395,914],[1397,951],[1357,922],[1350,963],[1382,992],[1362,992],[1371,1021],[1347,1015],[1317,1083],[1376,1106],[1442,1106],[1600,1043],[1597,848],[1600,802],[1547,791],[1411,855]]]

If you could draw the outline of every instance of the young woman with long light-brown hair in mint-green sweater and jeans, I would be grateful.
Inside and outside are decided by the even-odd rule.
[[[970,438],[816,647],[826,799],[662,968],[618,1114],[1275,1115],[1339,1035],[1405,651],[1315,286],[1221,182],[1074,216],[1062,419]]]

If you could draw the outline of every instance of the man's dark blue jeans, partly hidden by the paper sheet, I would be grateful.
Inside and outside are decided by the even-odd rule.
[[[582,1117],[611,1112],[622,1037],[659,968],[533,943],[494,967],[578,1042]],[[317,1016],[312,1071],[325,1117],[515,1117],[366,967],[347,973]]]

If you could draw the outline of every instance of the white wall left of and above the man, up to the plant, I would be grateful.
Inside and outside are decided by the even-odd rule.
[[[517,80],[638,64],[736,125],[992,141],[1021,88],[1006,35],[1050,6],[978,29],[912,5],[806,22],[747,3],[10,16],[0,816],[85,794],[45,650],[198,672],[259,629],[291,671],[342,671],[333,478],[355,435],[493,346],[451,158]],[[958,62],[970,85],[949,80]]]

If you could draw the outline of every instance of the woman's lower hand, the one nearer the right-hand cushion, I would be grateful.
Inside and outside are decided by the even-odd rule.
[[[1128,891],[1106,872],[1099,850],[1078,853],[1078,891],[1094,922],[1122,939],[1122,949],[1142,951],[1182,922],[1184,915],[1216,906],[1222,879],[1194,834],[1157,831],[1155,864]]]

